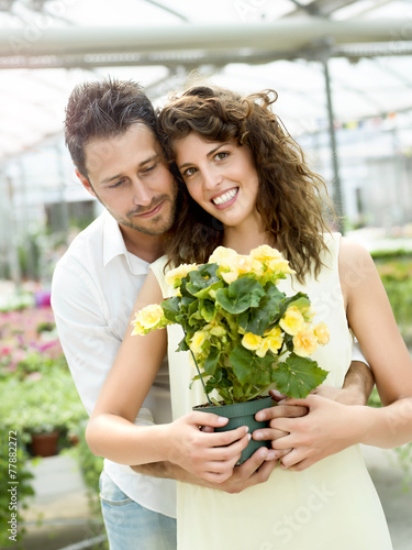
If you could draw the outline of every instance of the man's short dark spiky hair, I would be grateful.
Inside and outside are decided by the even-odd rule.
[[[146,124],[156,135],[154,108],[137,82],[108,78],[76,86],[66,107],[65,139],[80,174],[88,177],[88,141],[121,135],[136,122]]]

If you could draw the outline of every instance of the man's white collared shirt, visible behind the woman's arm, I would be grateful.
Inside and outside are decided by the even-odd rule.
[[[107,211],[76,237],[56,265],[52,307],[77,391],[90,415],[126,330],[148,263],[131,254]],[[136,424],[171,421],[166,358]],[[176,517],[176,482],[104,460],[104,471],[140,505]]]

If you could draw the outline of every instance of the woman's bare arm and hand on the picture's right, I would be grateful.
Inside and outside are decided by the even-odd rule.
[[[277,429],[290,433],[274,443],[279,450],[293,448],[282,459],[287,468],[310,466],[316,441],[324,437],[330,438],[333,452],[355,443],[390,448],[412,440],[412,361],[372,258],[345,239],[339,276],[348,324],[371,366],[383,407],[347,407],[316,395],[291,400],[307,406],[309,414],[275,421]]]

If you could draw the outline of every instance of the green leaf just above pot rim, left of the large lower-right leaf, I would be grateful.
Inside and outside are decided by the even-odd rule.
[[[258,358],[243,345],[237,344],[229,356],[237,380],[241,384],[269,385],[271,382],[271,365],[274,356],[267,354]]]

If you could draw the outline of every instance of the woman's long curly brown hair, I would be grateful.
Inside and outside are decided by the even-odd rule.
[[[250,148],[259,178],[256,208],[265,230],[299,280],[312,268],[318,276],[325,248],[322,233],[329,231],[323,218],[326,187],[271,111],[276,99],[274,90],[242,98],[226,89],[196,86],[172,97],[159,112],[158,134],[185,196],[168,243],[169,264],[205,263],[223,241],[223,226],[189,196],[174,163],[176,141],[194,132],[209,141],[234,139]]]

